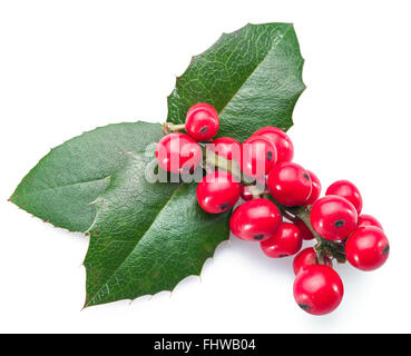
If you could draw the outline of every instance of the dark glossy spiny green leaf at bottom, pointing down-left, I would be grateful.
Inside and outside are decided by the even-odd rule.
[[[95,202],[86,306],[172,290],[183,278],[199,275],[228,239],[229,212],[202,210],[195,184],[148,182],[146,167],[143,155],[131,155]]]

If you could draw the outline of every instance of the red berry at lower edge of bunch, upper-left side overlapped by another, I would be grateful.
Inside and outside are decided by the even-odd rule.
[[[263,253],[272,258],[295,255],[303,245],[299,228],[291,222],[282,222],[274,236],[261,243]]]

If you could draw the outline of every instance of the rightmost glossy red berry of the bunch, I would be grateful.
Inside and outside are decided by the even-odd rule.
[[[380,228],[360,227],[346,240],[345,255],[354,267],[373,270],[386,261],[390,255],[390,244]]]

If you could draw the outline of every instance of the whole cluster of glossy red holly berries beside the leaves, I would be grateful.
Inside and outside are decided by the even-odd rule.
[[[203,149],[197,142],[207,141],[203,146],[206,151],[235,161],[253,184],[242,184],[241,177],[217,169],[208,171],[197,187],[198,204],[211,214],[224,212],[243,198],[244,202],[231,216],[233,235],[258,241],[266,256],[280,258],[297,254],[303,240],[315,238],[316,233],[320,239],[342,244],[346,259],[359,269],[373,270],[385,263],[389,241],[381,224],[361,214],[362,197],[352,182],[339,180],[320,198],[319,178],[292,162],[294,147],[283,130],[264,127],[239,144],[229,137],[212,140],[218,127],[216,110],[197,103],[187,112],[188,135],[165,136],[157,145],[156,158],[163,169],[188,174],[202,162]],[[297,216],[287,216],[291,222],[283,221],[278,207],[305,207],[310,221]],[[302,309],[323,315],[340,305],[343,284],[326,255],[319,258],[316,249],[306,248],[296,255],[293,268],[294,298]]]

